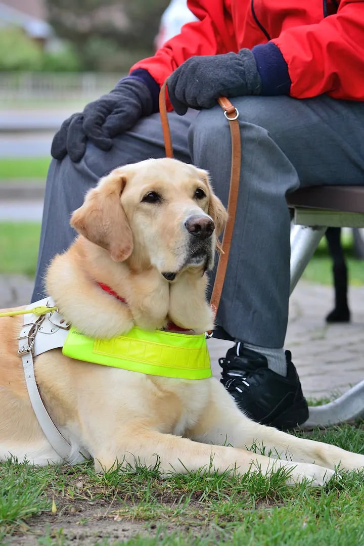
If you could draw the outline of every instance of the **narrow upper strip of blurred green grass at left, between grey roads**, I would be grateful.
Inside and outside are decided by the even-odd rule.
[[[45,180],[50,157],[0,158],[0,182]]]

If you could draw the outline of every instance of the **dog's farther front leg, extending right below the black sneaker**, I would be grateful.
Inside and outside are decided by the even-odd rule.
[[[255,446],[261,453],[297,463],[314,463],[334,470],[364,468],[364,455],[323,442],[297,438],[272,426],[255,423],[238,410],[223,385],[211,379],[208,408],[189,432],[193,440],[226,443],[238,448]]]

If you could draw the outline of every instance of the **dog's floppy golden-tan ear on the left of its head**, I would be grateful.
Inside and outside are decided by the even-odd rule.
[[[133,252],[133,234],[120,202],[127,177],[115,169],[91,189],[85,202],[71,216],[75,230],[110,252],[115,262],[123,262]]]

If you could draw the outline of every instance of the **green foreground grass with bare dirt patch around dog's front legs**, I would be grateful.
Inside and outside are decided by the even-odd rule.
[[[362,423],[300,436],[364,453]],[[201,470],[161,479],[157,469],[98,476],[91,462],[47,468],[6,462],[0,465],[0,543],[37,532],[32,544],[70,545],[76,528],[85,544],[99,546],[363,544],[363,477],[343,473],[317,488],[285,485],[282,472],[268,478]],[[115,529],[133,525],[135,536],[115,540]]]

